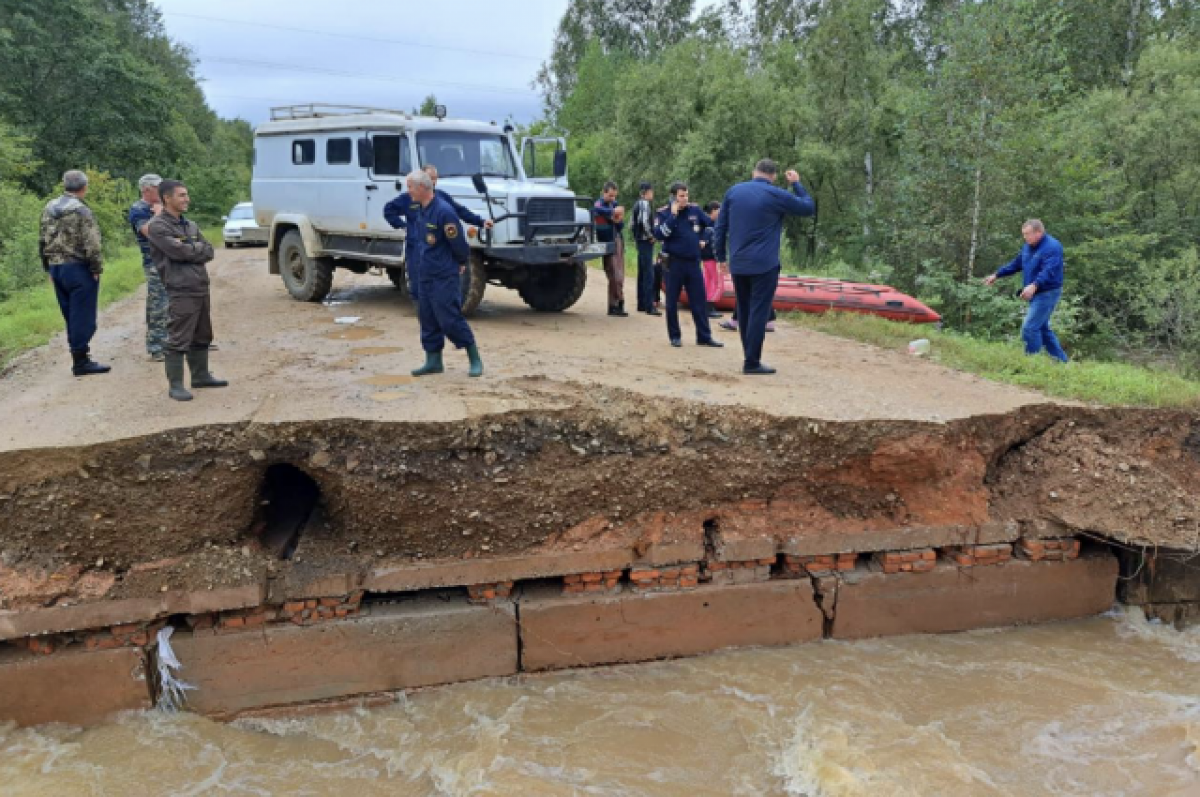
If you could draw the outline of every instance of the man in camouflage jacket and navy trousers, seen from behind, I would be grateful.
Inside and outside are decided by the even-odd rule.
[[[71,170],[62,175],[64,193],[47,203],[37,247],[42,268],[50,275],[62,320],[67,325],[71,372],[77,377],[108,373],[112,368],[92,361],[91,338],[96,334],[100,275],[104,270],[100,224],[84,204],[88,175]]]

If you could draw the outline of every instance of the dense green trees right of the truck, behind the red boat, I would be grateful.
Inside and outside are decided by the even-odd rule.
[[[720,199],[774,157],[818,203],[785,271],[890,281],[979,336],[1015,334],[978,277],[1039,217],[1076,352],[1200,366],[1195,0],[574,0],[538,85],[583,193]]]

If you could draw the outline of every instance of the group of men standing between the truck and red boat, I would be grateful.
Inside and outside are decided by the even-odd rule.
[[[696,328],[696,346],[721,348],[709,326],[708,289],[701,265],[702,252],[710,248],[720,271],[730,274],[737,294],[737,325],[742,337],[742,372],[746,374],[775,373],[763,364],[762,348],[770,320],[775,288],[779,284],[780,241],[787,216],[811,216],[815,203],[794,170],[786,174],[791,191],[775,185],[779,167],[763,158],[755,166],[746,182],[730,188],[714,221],[700,205],[691,202],[685,182],[671,186],[671,202],[658,211],[652,210],[653,186],[642,184],[641,196],[634,208],[634,239],[637,244],[637,310],[650,316],[661,314],[655,307],[654,246],[662,246],[664,308],[667,338],[671,346],[683,346],[679,326],[679,296],[688,292]],[[624,247],[622,208],[617,205],[617,186],[605,185],[595,203],[593,217],[596,239],[613,241],[616,251],[605,258],[608,276],[608,314],[626,316],[624,302]]]

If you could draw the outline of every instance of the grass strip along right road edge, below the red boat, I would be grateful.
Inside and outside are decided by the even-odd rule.
[[[907,350],[911,341],[925,337],[930,359],[941,365],[1061,398],[1106,406],[1200,407],[1200,380],[1171,371],[1079,359],[1063,365],[1045,355],[1027,356],[1015,342],[984,341],[874,316],[828,312],[786,313],[784,318],[804,329],[887,349]]]

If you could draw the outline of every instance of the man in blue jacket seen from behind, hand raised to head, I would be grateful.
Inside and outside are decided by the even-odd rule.
[[[725,193],[721,215],[716,220],[713,250],[722,270],[728,264],[733,290],[738,295],[738,332],[744,355],[742,373],[775,372],[775,368],[763,365],[762,343],[775,302],[775,288],[779,287],[779,241],[784,218],[816,212],[816,204],[800,185],[800,175],[794,170],[787,172],[787,182],[792,186],[788,193],[773,185],[778,173],[779,167],[770,158],[758,161],[749,182],[739,182]]]

